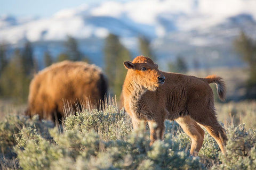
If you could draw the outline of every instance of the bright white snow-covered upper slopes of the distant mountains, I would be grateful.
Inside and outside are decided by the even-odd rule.
[[[183,1],[107,1],[64,9],[51,18],[0,18],[0,39],[18,43],[76,38],[105,38],[109,32],[121,37],[145,35],[165,37],[173,31],[204,31],[227,18],[246,13],[256,17],[256,1],[183,0]]]

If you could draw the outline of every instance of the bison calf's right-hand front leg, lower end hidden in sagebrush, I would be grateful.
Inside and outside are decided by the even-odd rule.
[[[164,120],[159,122],[148,122],[148,126],[150,129],[150,146],[153,145],[154,141],[157,139],[162,140],[163,134],[165,130]]]

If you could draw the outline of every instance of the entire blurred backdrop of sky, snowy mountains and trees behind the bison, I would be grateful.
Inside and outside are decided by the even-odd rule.
[[[227,101],[256,98],[256,1],[0,1],[0,101],[26,103],[33,75],[55,62],[98,65],[119,97],[123,62],[217,74]]]

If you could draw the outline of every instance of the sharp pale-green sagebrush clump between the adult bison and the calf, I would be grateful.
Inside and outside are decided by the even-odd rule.
[[[74,128],[80,131],[93,129],[102,140],[107,141],[126,137],[132,129],[132,123],[124,109],[118,110],[117,107],[110,105],[104,111],[84,110],[68,116],[65,120],[65,129],[73,130]]]

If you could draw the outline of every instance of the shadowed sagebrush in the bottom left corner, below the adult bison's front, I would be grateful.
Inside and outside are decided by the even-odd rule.
[[[19,168],[17,153],[13,146],[26,146],[27,139],[21,139],[22,129],[29,128],[29,131],[37,132],[40,137],[51,140],[49,128],[53,128],[52,122],[40,121],[38,116],[28,118],[23,115],[7,115],[0,122],[0,167],[1,168]]]

